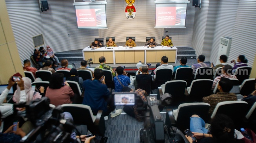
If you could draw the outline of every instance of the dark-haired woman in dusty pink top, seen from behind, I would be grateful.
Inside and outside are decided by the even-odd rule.
[[[74,92],[67,83],[63,80],[63,73],[53,73],[50,79],[50,85],[46,90],[45,97],[51,100],[51,104],[58,106],[62,104],[72,104],[70,100],[74,97]]]

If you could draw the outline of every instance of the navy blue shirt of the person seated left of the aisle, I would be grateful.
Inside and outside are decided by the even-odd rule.
[[[107,102],[104,99],[110,95],[107,86],[102,84],[100,80],[87,79],[83,82],[83,87],[84,100],[82,104],[90,106],[94,115],[99,110],[103,110],[103,113],[107,112]]]

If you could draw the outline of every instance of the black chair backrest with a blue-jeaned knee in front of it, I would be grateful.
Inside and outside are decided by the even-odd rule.
[[[175,115],[175,120],[177,127],[179,129],[185,130],[189,129],[190,117],[193,114],[197,114],[203,120],[207,120],[208,112],[210,109],[210,104],[208,103],[184,103],[180,104],[178,111]]]

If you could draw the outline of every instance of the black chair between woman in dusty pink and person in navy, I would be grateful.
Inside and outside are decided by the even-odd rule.
[[[73,104],[82,104],[83,98],[81,97],[82,92],[80,90],[79,84],[75,81],[67,80],[67,83],[72,88],[74,92],[74,97],[71,99]]]

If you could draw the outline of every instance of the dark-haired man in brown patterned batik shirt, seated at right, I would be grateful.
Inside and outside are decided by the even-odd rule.
[[[229,93],[233,88],[233,82],[230,79],[221,77],[218,83],[218,92],[217,94],[212,94],[208,97],[203,97],[203,102],[211,105],[209,114],[212,114],[216,105],[223,101],[236,101],[237,96],[234,93]]]

